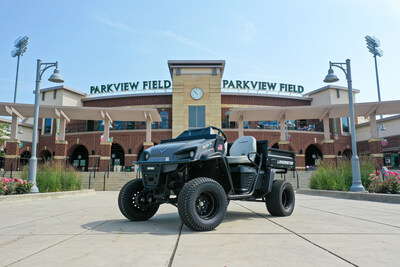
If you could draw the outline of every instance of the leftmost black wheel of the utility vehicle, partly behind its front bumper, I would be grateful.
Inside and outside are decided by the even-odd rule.
[[[152,196],[144,191],[141,179],[127,182],[119,192],[118,206],[121,213],[131,221],[147,221],[156,214],[159,205],[151,203]]]

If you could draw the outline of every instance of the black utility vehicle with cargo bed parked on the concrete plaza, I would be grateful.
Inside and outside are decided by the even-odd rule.
[[[228,151],[221,129],[187,130],[146,149],[135,164],[142,178],[125,184],[118,197],[122,214],[132,221],[148,220],[169,203],[185,225],[209,231],[223,220],[229,200],[265,202],[274,216],[294,209],[292,185],[274,178],[295,169],[295,154],[252,136],[238,138]]]

